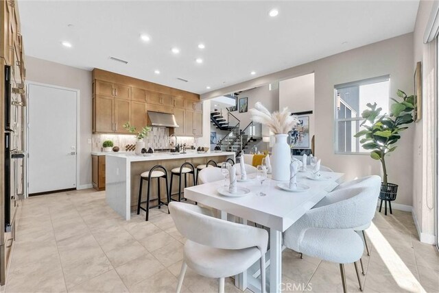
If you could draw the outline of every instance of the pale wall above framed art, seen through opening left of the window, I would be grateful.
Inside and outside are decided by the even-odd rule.
[[[279,83],[279,109],[291,112],[314,111],[314,73],[283,80]],[[309,137],[316,128],[314,114],[309,114]]]

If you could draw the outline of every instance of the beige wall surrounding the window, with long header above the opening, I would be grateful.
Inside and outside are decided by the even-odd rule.
[[[390,75],[390,90],[393,97],[396,96],[397,89],[411,93],[413,64],[413,34],[411,33],[208,92],[202,94],[201,98],[209,99],[228,92],[315,73],[316,155],[322,158],[322,164],[325,166],[345,173],[345,179],[371,174],[380,175],[379,162],[372,160],[368,155],[335,155],[334,85]],[[396,203],[403,205],[412,205],[413,138],[413,129],[405,131],[399,142],[399,149],[388,157],[389,181],[399,184]]]

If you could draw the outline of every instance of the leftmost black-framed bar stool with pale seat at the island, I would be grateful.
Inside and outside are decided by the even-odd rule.
[[[166,199],[167,199],[167,203],[163,203],[163,201],[161,200],[161,192],[160,192],[160,179],[163,178],[166,181]],[[157,198],[156,199],[150,199],[150,186],[151,186],[151,179],[157,179]],[[141,197],[142,197],[142,187],[143,187],[143,180],[147,181],[148,187],[147,187],[147,193],[146,193],[146,201],[142,201]],[[158,204],[154,205],[154,206],[150,206],[150,201],[157,201],[158,200]],[[146,209],[141,207],[142,203],[146,203]],[[140,214],[140,210],[142,209],[143,211],[146,212],[146,218],[145,220],[148,220],[149,216],[150,216],[150,209],[154,208],[154,207],[158,207],[160,209],[160,207],[162,205],[167,205],[169,203],[169,187],[167,185],[167,170],[165,169],[165,167],[161,166],[161,165],[156,165],[154,167],[151,168],[151,170],[143,172],[140,175],[140,188],[139,188],[139,201],[137,202],[137,214]],[[168,211],[169,213],[169,211]]]

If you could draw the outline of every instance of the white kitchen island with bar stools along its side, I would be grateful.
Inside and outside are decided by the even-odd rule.
[[[197,153],[188,151],[178,155],[172,153],[154,153],[152,155],[134,155],[130,153],[108,153],[106,155],[106,203],[112,207],[119,215],[126,220],[130,220],[131,212],[137,209],[137,199],[139,196],[139,184],[141,173],[150,170],[155,165],[162,165],[168,171],[168,181],[170,182],[171,169],[189,162],[196,168],[200,164],[206,164],[209,160],[224,162],[228,158],[235,161],[234,152],[219,153]],[[188,175],[190,178],[191,175]],[[192,179],[187,180],[188,187],[192,186]],[[153,180],[151,190],[157,190],[156,180]],[[178,190],[178,181],[174,180],[171,193]],[[145,194],[146,188],[143,192]],[[152,192],[152,198],[156,193]],[[161,184],[161,197],[167,201],[165,184]],[[143,200],[145,200],[143,195]]]

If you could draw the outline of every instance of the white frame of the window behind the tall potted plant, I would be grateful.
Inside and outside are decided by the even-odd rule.
[[[355,118],[337,118],[338,110],[337,110],[337,90],[341,90],[343,88],[351,88],[353,86],[365,86],[368,84],[377,84],[379,82],[388,81],[389,82],[389,92],[388,92],[388,103],[390,103],[390,75],[381,75],[379,77],[371,77],[368,79],[361,79],[359,81],[351,81],[345,84],[336,84],[333,90],[333,110],[334,110],[334,153],[335,155],[370,155],[370,152],[360,152],[360,151],[350,151],[350,152],[342,152],[338,150],[338,123],[340,122],[353,122],[353,121],[362,121],[364,118],[361,116]],[[346,105],[346,104],[345,104]],[[361,113],[359,113],[361,115]]]

